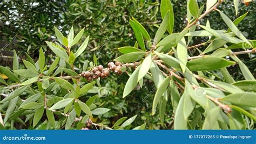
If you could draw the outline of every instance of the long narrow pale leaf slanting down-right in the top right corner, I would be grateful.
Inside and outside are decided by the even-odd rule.
[[[223,18],[223,20],[225,21],[225,23],[227,24],[227,26],[230,28],[230,30],[237,35],[238,38],[240,38],[241,40],[244,40],[247,44],[251,45],[251,43],[245,38],[244,35],[242,35],[242,33],[238,30],[237,26],[235,26],[235,24],[230,20],[230,18],[228,18],[223,12],[221,12],[220,10],[217,10],[220,13],[220,16]]]

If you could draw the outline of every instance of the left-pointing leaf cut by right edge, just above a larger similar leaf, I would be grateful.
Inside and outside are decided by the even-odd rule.
[[[256,92],[256,81],[255,80],[244,80],[232,83],[236,87],[246,90],[246,91],[255,91]]]

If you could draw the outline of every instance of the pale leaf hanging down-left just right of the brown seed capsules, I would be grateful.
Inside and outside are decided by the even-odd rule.
[[[135,69],[132,73],[132,75],[130,76],[130,78],[128,79],[128,81],[125,84],[124,87],[124,93],[123,93],[123,98],[125,98],[127,95],[129,95],[129,93],[136,87],[136,85],[138,84],[138,76],[139,76],[139,69],[140,66],[137,67],[137,69]]]

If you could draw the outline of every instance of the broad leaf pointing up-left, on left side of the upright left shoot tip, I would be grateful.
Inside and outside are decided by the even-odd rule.
[[[69,56],[68,54],[65,52],[65,49],[58,46],[58,45],[55,45],[53,44],[52,42],[49,42],[49,41],[45,41],[46,44],[50,47],[51,51],[53,53],[55,53],[56,55],[58,55],[60,58],[64,59],[64,60],[68,60],[69,59]]]

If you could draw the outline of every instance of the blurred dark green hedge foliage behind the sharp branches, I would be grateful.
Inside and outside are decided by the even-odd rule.
[[[206,1],[199,1],[203,5]],[[180,32],[187,24],[186,1],[172,1],[174,10],[174,32]],[[31,57],[38,57],[39,48],[43,47],[49,62],[52,62],[52,55],[46,49],[45,40],[55,39],[53,27],[56,26],[63,33],[68,34],[73,26],[75,33],[85,27],[85,40],[90,35],[89,46],[86,53],[76,63],[77,69],[83,66],[85,60],[92,61],[93,53],[99,58],[99,63],[106,66],[107,62],[118,56],[118,47],[132,46],[136,41],[129,24],[129,18],[134,17],[146,27],[153,37],[161,23],[159,1],[5,1],[0,2],[0,47],[1,65],[11,66],[12,49],[15,49],[20,57],[28,53]],[[256,38],[256,2],[249,6],[239,5],[238,16],[232,2],[225,2],[220,10],[224,11],[232,20],[249,12],[247,17],[239,24],[239,30],[247,39]],[[203,21],[210,21],[211,27],[215,30],[227,29],[219,13],[212,12]],[[80,40],[80,41],[82,41]],[[199,44],[203,40],[193,38],[191,43]],[[191,53],[194,53],[191,51]],[[253,63],[255,54],[239,55],[239,58],[256,76],[256,64]],[[35,58],[36,59],[36,58]],[[241,80],[242,76],[237,66],[229,69],[235,81]],[[147,123],[146,129],[173,128],[172,113],[166,113],[169,118],[165,119],[165,125],[161,126],[159,117],[152,117],[151,107],[154,95],[152,82],[145,81],[142,89],[139,87],[131,93],[131,96],[122,98],[127,75],[112,75],[102,81],[102,85],[111,88],[107,97],[97,99],[98,105],[111,109],[103,119],[107,123],[114,123],[117,119],[126,116],[132,117],[138,114],[134,125]],[[152,95],[145,99],[147,94]],[[171,106],[167,110],[171,109]],[[101,118],[102,119],[102,118]],[[97,121],[97,119],[95,119]],[[60,122],[61,123],[61,122]]]

